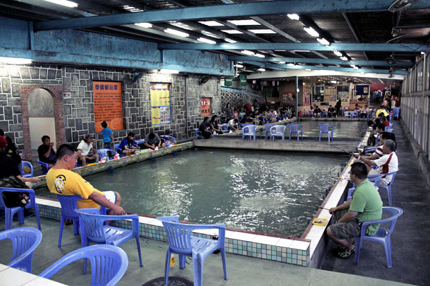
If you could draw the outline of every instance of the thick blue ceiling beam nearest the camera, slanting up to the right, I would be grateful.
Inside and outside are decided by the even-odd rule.
[[[49,3],[49,2],[47,2]],[[66,28],[89,28],[95,26],[119,26],[139,22],[180,21],[192,19],[214,19],[218,17],[239,17],[259,15],[279,15],[286,13],[341,13],[386,11],[393,0],[284,0],[253,3],[198,6],[180,9],[156,10],[147,12],[123,13],[96,17],[41,21],[34,25],[35,30],[55,30]],[[47,5],[47,4],[46,4]],[[430,8],[429,1],[418,1],[413,9]]]

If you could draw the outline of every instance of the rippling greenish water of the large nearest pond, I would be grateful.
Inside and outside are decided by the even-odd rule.
[[[329,154],[188,150],[85,179],[121,193],[129,212],[300,236],[346,161]],[[46,188],[37,195],[55,197]]]

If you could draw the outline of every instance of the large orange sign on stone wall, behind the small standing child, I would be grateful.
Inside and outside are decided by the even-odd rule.
[[[92,82],[94,93],[94,124],[101,132],[101,123],[106,121],[112,130],[123,129],[123,103],[121,82]]]

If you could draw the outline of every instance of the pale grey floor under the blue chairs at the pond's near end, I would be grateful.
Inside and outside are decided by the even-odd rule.
[[[22,226],[36,227],[35,217],[26,219]],[[14,222],[14,228],[19,227]],[[80,248],[80,236],[73,235],[72,226],[65,226],[62,247],[58,248],[59,222],[42,218],[43,239],[33,256],[33,274],[40,274],[55,260]],[[0,222],[0,231],[4,230]],[[141,238],[141,251],[144,268],[139,267],[136,242],[131,240],[121,245],[128,254],[128,269],[119,285],[142,285],[149,280],[164,276],[164,258],[167,244]],[[7,264],[11,258],[9,241],[0,242],[0,263]],[[175,258],[178,261],[178,257]],[[53,280],[67,285],[89,285],[90,270],[82,275],[83,262],[74,262],[65,271],[53,276]],[[223,280],[221,255],[210,255],[205,260],[203,285],[402,285],[387,283],[384,280],[367,278],[338,272],[286,265],[281,262],[247,258],[227,254],[228,280]],[[187,260],[185,269],[179,269],[178,262],[171,268],[170,276],[182,276],[193,280],[191,260]]]

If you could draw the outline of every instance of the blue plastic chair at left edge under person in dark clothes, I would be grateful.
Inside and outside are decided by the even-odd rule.
[[[25,206],[14,206],[12,208],[8,208],[3,201],[3,192],[28,193],[30,201]],[[37,229],[40,230],[39,208],[36,204],[35,191],[30,188],[0,188],[0,210],[4,210],[5,213],[6,229],[12,229],[12,219],[15,213],[18,215],[19,224],[24,224],[24,208],[35,209]]]

